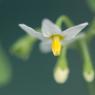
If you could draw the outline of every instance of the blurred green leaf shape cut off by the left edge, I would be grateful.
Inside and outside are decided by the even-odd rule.
[[[11,82],[12,68],[8,56],[0,45],[0,87]]]

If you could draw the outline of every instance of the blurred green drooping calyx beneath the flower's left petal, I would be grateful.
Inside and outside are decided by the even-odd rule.
[[[10,48],[12,54],[15,54],[17,57],[26,60],[29,58],[31,51],[33,49],[33,44],[36,41],[35,38],[32,38],[29,35],[25,35],[19,38]]]

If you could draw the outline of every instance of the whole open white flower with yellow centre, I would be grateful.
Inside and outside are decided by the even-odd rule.
[[[29,35],[41,40],[40,47],[44,51],[52,50],[55,56],[60,55],[62,46],[64,47],[64,44],[74,39],[75,36],[87,25],[88,23],[83,23],[62,31],[53,22],[48,19],[44,19],[41,27],[42,32],[37,32],[25,24],[19,24],[19,26]]]

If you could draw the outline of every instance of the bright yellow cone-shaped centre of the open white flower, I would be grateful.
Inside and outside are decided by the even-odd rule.
[[[63,36],[60,35],[53,35],[51,36],[52,44],[51,49],[54,54],[54,56],[59,56],[62,49],[61,40],[63,39]]]

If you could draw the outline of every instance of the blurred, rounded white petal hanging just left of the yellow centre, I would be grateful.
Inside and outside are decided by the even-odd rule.
[[[42,41],[39,44],[39,49],[42,53],[49,53],[51,51],[51,41]]]

